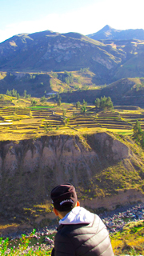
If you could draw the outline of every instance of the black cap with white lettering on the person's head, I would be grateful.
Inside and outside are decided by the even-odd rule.
[[[50,197],[54,208],[59,211],[67,211],[74,208],[77,202],[75,188],[70,183],[58,185],[51,191]]]

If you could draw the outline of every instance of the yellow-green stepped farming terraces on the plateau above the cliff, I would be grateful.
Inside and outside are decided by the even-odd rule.
[[[0,104],[0,139],[20,140],[54,134],[86,134],[110,130],[118,134],[132,134],[136,120],[144,129],[144,110],[136,106],[117,106],[111,111],[98,111],[95,106],[76,108],[74,104],[45,102],[36,99],[36,106],[28,99],[10,96]],[[12,98],[12,99],[11,99]]]

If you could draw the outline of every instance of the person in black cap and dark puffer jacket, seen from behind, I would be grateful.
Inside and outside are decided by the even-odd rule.
[[[51,256],[114,256],[105,224],[97,214],[80,207],[73,185],[54,187],[50,197],[60,218]]]

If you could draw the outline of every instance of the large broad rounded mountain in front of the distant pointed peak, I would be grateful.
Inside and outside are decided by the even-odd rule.
[[[117,55],[108,53],[102,42],[82,34],[58,34],[47,30],[18,34],[2,42],[0,70],[46,72],[90,67],[90,70],[97,70],[101,82],[106,82],[110,78],[109,70],[122,62],[123,54],[118,52]]]

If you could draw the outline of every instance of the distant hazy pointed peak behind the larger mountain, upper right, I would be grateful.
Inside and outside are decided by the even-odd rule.
[[[88,34],[87,37],[94,40],[130,40],[138,39],[144,40],[144,30],[115,30],[109,25],[106,25],[94,34]]]

